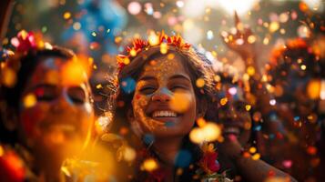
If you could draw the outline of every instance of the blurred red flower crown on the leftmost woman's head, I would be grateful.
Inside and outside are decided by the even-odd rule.
[[[25,56],[29,51],[53,48],[42,39],[42,34],[34,34],[21,30],[10,40],[11,45],[15,47],[15,51],[3,48],[0,50],[0,85],[7,87],[15,86],[16,73],[20,68],[20,58]]]

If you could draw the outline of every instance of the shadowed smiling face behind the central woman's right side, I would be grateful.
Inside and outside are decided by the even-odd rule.
[[[242,146],[249,143],[251,131],[251,116],[246,110],[246,102],[243,96],[243,89],[231,84],[222,84],[223,96],[227,97],[227,103],[220,105],[218,119],[223,124],[223,135],[233,135],[239,140]]]

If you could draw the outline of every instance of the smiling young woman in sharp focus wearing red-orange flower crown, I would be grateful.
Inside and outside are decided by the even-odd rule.
[[[140,161],[133,179],[190,181],[196,177],[202,150],[188,135],[212,102],[213,72],[208,60],[180,36],[161,34],[159,41],[150,45],[136,40],[128,56],[117,57],[120,92],[114,130],[128,137],[133,147],[144,147],[143,161],[153,158],[157,165],[146,173],[139,170],[141,164],[146,170]],[[197,86],[197,80],[204,85]],[[128,134],[123,132],[126,128],[131,130]],[[215,159],[212,166],[218,170]]]

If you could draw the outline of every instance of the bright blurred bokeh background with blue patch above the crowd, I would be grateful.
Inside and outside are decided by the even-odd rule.
[[[222,31],[231,32],[235,10],[254,32],[251,41],[259,46],[260,67],[268,62],[274,45],[290,37],[315,39],[325,31],[322,0],[15,0],[2,4],[9,10],[1,32],[6,48],[11,47],[11,37],[25,29],[94,61],[92,85],[98,112],[106,109],[109,93],[99,83],[113,73],[115,56],[132,38],[146,37],[150,30],[179,33],[209,59],[239,73],[245,72],[242,60],[220,37]]]

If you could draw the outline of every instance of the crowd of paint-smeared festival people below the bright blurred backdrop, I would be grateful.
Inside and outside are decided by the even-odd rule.
[[[244,76],[216,69],[180,35],[127,45],[101,130],[89,62],[21,31],[15,50],[2,49],[0,181],[321,181],[320,45],[287,40],[261,71],[239,24],[222,38]]]

